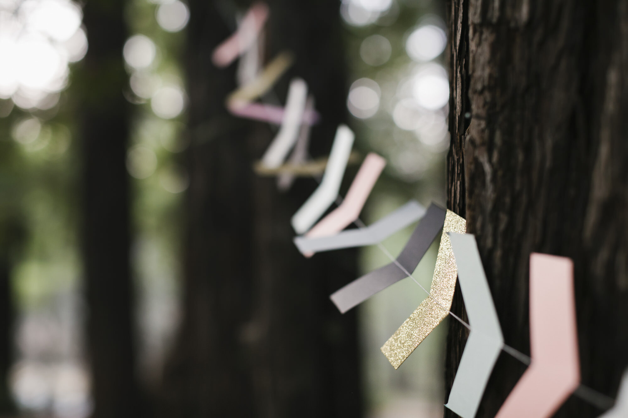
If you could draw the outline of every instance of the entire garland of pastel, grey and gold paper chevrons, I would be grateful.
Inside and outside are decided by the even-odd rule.
[[[240,77],[242,80],[251,80],[259,68],[257,62],[259,50],[254,47],[261,47],[261,29],[267,18],[268,6],[263,3],[254,4],[242,19],[237,32],[214,51],[212,59],[215,65],[224,67],[237,56],[247,53],[251,55],[247,58],[251,59],[247,59],[246,63],[242,60],[242,71],[239,69],[238,74],[242,76]],[[281,174],[282,177],[278,179],[280,188],[290,187],[295,173],[298,173],[300,169],[312,171],[312,168],[305,168],[307,164],[302,163],[305,161],[309,126],[318,119],[317,113],[313,110],[313,98],[309,100],[312,105],[308,105],[305,109],[306,88],[296,88],[293,82],[290,90],[294,91],[292,94],[289,92],[286,109],[267,104],[253,104],[251,100],[265,94],[290,67],[292,60],[289,53],[280,54],[264,68],[261,74],[256,75],[251,82],[246,83],[227,98],[227,107],[234,115],[275,124],[281,122],[281,129],[264,155],[263,164],[256,168],[261,172],[266,170],[266,174],[271,172]],[[305,85],[305,82],[302,83]],[[281,163],[291,147],[295,146],[297,139],[300,147],[298,149],[295,147],[290,163],[282,165]],[[353,139],[353,132],[348,127],[338,127],[332,153],[325,167],[323,182],[293,216],[292,223],[296,232],[303,233],[308,230],[331,205],[342,181]],[[362,168],[365,168],[366,162]],[[295,238],[295,244],[301,252],[308,255],[308,252],[314,251],[377,244],[383,238],[423,215],[425,210],[416,202],[411,201],[371,227],[349,230],[327,237],[320,236],[337,232],[346,227],[347,223],[357,219],[380,172],[381,168],[379,171],[377,168],[366,170],[369,178],[368,181],[360,184],[359,193],[357,191],[349,193],[346,200],[348,203],[344,207],[341,205],[323,219],[317,227],[311,230],[310,237]],[[362,174],[362,177],[365,175]],[[360,175],[354,180],[355,188],[358,188],[359,178]],[[351,190],[354,190],[354,185]],[[430,206],[431,209],[432,206]],[[371,273],[374,274],[372,278],[376,277],[376,280],[369,282],[365,280],[369,275],[365,275],[331,296],[340,311],[345,312],[392,282],[398,281],[399,279],[395,280],[395,278],[399,276],[399,273],[394,273],[390,267],[394,266],[398,271],[403,272],[401,278],[411,276],[411,271],[416,268],[418,260],[423,257],[426,250],[426,248],[423,250],[425,247],[423,242],[415,247],[415,233],[421,225],[424,229],[428,226],[433,229],[435,225],[440,228],[439,222],[426,222],[430,218],[430,210],[423,222],[415,229],[413,237],[406,244],[398,259]],[[477,244],[472,235],[461,235],[465,232],[465,228],[465,220],[447,210],[430,294],[386,341],[381,350],[394,368],[398,368],[408,358],[416,346],[450,313],[459,268],[462,296],[472,328],[470,328],[470,335],[445,406],[462,418],[473,418],[499,352],[508,348],[507,351],[514,355],[517,351],[504,346]],[[315,237],[316,235],[319,237]],[[429,236],[429,233],[423,234],[423,240]],[[458,256],[457,260],[453,255],[454,250]],[[406,258],[408,254],[412,255]],[[378,271],[382,274],[375,274]],[[362,285],[357,286],[360,281]],[[357,287],[351,289],[352,286]],[[347,295],[351,296],[347,297]],[[356,295],[359,297],[355,297]],[[354,301],[350,300],[352,297]],[[570,259],[546,254],[531,254],[529,303],[531,363],[502,405],[496,418],[549,417],[580,383],[573,297],[573,263]],[[617,404],[600,418],[627,416],[628,372],[622,378]]]

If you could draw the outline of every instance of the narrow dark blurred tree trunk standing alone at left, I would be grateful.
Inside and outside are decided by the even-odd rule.
[[[129,104],[123,0],[89,0],[89,50],[78,74],[83,148],[83,255],[94,417],[140,413],[129,264]]]

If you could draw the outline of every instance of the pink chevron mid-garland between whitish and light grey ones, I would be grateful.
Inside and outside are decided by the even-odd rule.
[[[354,181],[351,183],[342,204],[314,225],[305,236],[310,238],[327,237],[342,231],[354,222],[360,216],[362,207],[364,207],[364,203],[366,203],[385,166],[386,159],[375,153],[369,153],[355,174]],[[306,252],[303,255],[311,257],[314,253]]]

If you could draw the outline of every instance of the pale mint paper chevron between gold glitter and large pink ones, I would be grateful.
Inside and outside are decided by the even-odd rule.
[[[475,237],[453,232],[448,235],[472,328],[445,406],[462,418],[474,418],[490,373],[504,346],[504,337]]]

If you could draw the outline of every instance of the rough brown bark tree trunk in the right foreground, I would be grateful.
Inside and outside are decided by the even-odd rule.
[[[448,205],[477,237],[506,343],[529,353],[530,253],[571,257],[582,383],[615,396],[628,364],[628,2],[448,9]],[[465,338],[450,321],[448,387]],[[502,353],[478,417],[523,370]],[[598,415],[571,396],[556,417]]]

